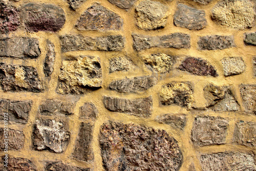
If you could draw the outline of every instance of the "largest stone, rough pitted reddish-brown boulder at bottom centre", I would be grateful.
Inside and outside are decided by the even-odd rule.
[[[164,130],[118,122],[101,126],[99,143],[105,170],[179,170],[182,153]]]

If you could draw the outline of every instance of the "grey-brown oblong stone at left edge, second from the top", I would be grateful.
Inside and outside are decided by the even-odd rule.
[[[0,39],[0,56],[14,58],[37,58],[41,51],[37,38],[2,38]]]

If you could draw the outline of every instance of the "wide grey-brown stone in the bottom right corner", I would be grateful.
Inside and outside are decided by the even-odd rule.
[[[202,155],[202,170],[246,170],[253,171],[256,165],[252,154],[240,152],[223,152]]]

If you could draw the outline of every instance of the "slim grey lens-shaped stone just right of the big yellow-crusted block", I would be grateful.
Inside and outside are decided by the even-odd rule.
[[[109,84],[109,89],[117,92],[137,93],[146,91],[157,83],[153,76],[141,76],[114,80]]]

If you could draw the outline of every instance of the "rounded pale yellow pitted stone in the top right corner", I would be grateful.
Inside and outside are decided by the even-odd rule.
[[[249,0],[222,0],[211,12],[214,22],[234,29],[251,28],[255,15]]]

